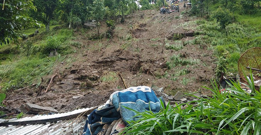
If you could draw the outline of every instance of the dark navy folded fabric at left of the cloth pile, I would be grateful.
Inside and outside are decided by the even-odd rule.
[[[97,135],[107,123],[121,118],[114,106],[105,109],[95,109],[87,118],[83,135]]]

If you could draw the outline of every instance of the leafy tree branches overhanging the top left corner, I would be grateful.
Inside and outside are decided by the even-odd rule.
[[[18,37],[23,34],[19,32],[22,28],[30,28],[33,26],[44,26],[38,21],[29,17],[29,10],[36,10],[32,0],[0,0],[0,44],[6,44],[10,40],[17,41]]]

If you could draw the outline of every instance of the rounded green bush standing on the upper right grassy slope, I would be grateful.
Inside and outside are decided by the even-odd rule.
[[[212,18],[216,19],[222,28],[226,28],[228,24],[231,24],[234,20],[233,14],[228,9],[218,8],[211,15]]]

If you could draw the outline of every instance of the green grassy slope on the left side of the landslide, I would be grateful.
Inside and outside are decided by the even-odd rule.
[[[53,28],[55,26],[51,26]],[[24,30],[23,33],[32,34],[35,29]],[[2,91],[12,88],[23,87],[32,83],[40,83],[45,75],[52,74],[53,67],[60,62],[70,63],[75,61],[71,53],[76,52],[69,45],[73,39],[73,32],[68,29],[51,30],[45,33],[44,29],[39,29],[39,34],[29,38],[33,46],[30,48],[30,55],[26,56],[26,50],[23,48],[22,41],[16,44],[0,46],[0,52],[6,53],[4,57],[10,59],[2,60],[0,65],[0,87]],[[42,33],[41,33],[42,32]],[[47,35],[56,37],[59,47],[57,56],[48,57],[46,50]]]

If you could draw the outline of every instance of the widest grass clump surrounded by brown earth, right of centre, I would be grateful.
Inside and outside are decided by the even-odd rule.
[[[199,63],[200,63],[199,59],[186,59],[186,58],[182,58],[181,55],[175,55],[175,54],[170,58],[170,61],[166,62],[168,69],[172,69],[176,66],[193,65]]]

